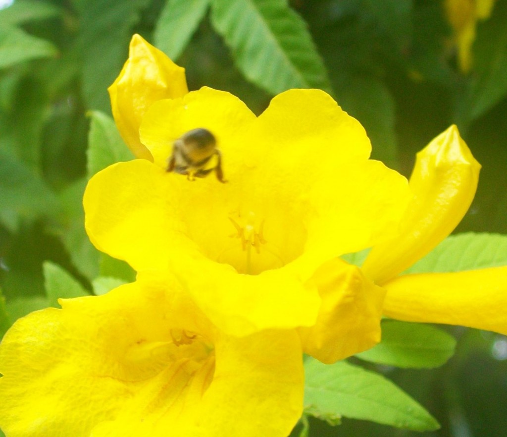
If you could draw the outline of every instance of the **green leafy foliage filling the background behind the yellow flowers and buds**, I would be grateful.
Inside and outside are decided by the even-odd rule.
[[[457,232],[507,233],[507,0],[478,24],[467,74],[438,0],[0,0],[0,8],[0,333],[58,296],[133,279],[88,242],[81,197],[96,171],[131,158],[106,88],[134,32],[185,66],[190,89],[231,91],[256,113],[284,89],[327,90],[364,124],[374,157],[407,176],[415,152],[456,123],[483,164]],[[480,266],[506,264],[505,238],[465,234],[413,268],[473,268],[477,254]],[[454,356],[429,369],[452,355],[453,338]],[[293,434],[504,437],[506,358],[501,335],[385,321],[377,349],[325,369],[306,362],[308,416]],[[315,400],[318,387],[330,396]]]

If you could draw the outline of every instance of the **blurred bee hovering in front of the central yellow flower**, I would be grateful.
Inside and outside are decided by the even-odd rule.
[[[167,159],[167,172],[187,175],[189,181],[204,178],[215,171],[216,179],[224,180],[222,155],[216,148],[214,135],[203,127],[189,130],[172,145],[172,154]]]

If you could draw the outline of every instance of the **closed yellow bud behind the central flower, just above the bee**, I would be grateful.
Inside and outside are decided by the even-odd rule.
[[[136,157],[152,160],[139,140],[141,119],[157,100],[181,97],[188,92],[185,69],[134,35],[129,58],[108,91],[116,125],[127,146]]]

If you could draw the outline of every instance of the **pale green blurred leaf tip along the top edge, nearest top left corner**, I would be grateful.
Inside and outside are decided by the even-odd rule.
[[[16,0],[11,6],[0,9],[3,25],[18,25],[30,21],[41,21],[60,15],[61,10],[51,3],[40,0]]]

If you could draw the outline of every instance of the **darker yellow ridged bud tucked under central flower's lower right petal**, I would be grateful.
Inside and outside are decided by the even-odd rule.
[[[385,291],[358,267],[337,258],[322,265],[311,281],[322,304],[315,325],[298,329],[303,352],[331,364],[380,341]]]

